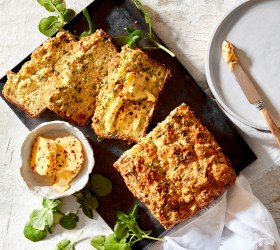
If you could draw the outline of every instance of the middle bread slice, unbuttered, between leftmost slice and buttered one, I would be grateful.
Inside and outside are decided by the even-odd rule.
[[[46,91],[47,107],[80,126],[88,123],[108,63],[117,54],[112,39],[102,30],[73,44],[54,65],[54,85]]]

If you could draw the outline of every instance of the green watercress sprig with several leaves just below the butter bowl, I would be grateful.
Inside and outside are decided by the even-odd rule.
[[[47,2],[47,0],[44,0]],[[42,4],[44,2],[41,1]],[[59,0],[57,0],[59,2]],[[97,197],[108,195],[112,190],[112,183],[102,175],[93,175],[86,187],[75,194],[77,202],[84,214],[93,218],[93,210],[99,206]],[[52,233],[56,224],[60,224],[65,229],[71,230],[77,226],[79,221],[78,211],[76,213],[63,214],[59,211],[61,201],[59,199],[43,198],[42,208],[35,209],[29,215],[29,221],[24,226],[24,236],[31,241],[40,241],[44,239],[47,233]],[[118,229],[120,231],[120,229]],[[119,233],[121,235],[121,233]],[[64,246],[68,241],[57,244],[57,249],[73,250],[74,243],[67,245],[68,248],[58,248]]]

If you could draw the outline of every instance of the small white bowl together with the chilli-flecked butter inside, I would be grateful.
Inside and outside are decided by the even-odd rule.
[[[29,190],[50,199],[84,188],[95,163],[84,134],[63,121],[32,130],[22,144],[21,159],[21,176]]]

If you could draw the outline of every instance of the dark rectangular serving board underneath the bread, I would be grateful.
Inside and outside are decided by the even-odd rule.
[[[129,0],[95,0],[87,9],[92,17],[95,27],[102,28],[112,37],[124,35],[125,27],[134,27],[147,31],[144,19],[139,14],[134,4]],[[76,34],[80,34],[82,31],[87,30],[88,25],[83,14],[78,14],[66,25],[65,29]],[[158,39],[156,34],[154,35],[155,38]],[[160,95],[159,103],[154,112],[148,131],[154,128],[158,122],[164,120],[171,110],[179,106],[182,102],[185,102],[194,110],[195,115],[202,121],[202,123],[212,132],[215,139],[223,148],[224,153],[230,159],[237,173],[253,162],[256,159],[255,154],[235,131],[224,113],[197,85],[180,62],[162,50],[150,50],[147,51],[147,53],[157,61],[170,67],[172,72],[172,77],[168,80],[163,93]],[[27,60],[29,60],[29,57],[25,58],[19,65],[12,69],[12,71],[17,72]],[[0,80],[1,92],[5,82],[6,77],[3,77]],[[33,119],[16,106],[9,102],[7,103],[12,111],[30,130],[42,122],[64,120],[51,111],[46,111],[41,117]],[[164,233],[164,228],[147,211],[146,207],[133,197],[126,188],[120,174],[113,168],[113,163],[125,150],[129,149],[132,144],[129,145],[120,140],[107,139],[98,142],[90,125],[80,129],[87,136],[94,150],[96,165],[93,173],[103,174],[113,183],[112,193],[106,197],[100,198],[100,207],[97,211],[102,218],[111,228],[113,228],[116,222],[117,210],[128,212],[133,207],[133,204],[138,203],[140,204],[139,224],[144,229],[152,229],[154,236],[159,236]],[[149,241],[142,241],[135,246],[135,249],[142,249],[148,244]]]

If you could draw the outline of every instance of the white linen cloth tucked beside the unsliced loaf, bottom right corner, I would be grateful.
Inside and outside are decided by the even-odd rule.
[[[215,205],[175,228],[155,249],[280,249],[275,222],[241,174]],[[154,249],[154,248],[153,248]]]

